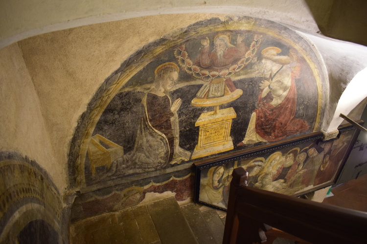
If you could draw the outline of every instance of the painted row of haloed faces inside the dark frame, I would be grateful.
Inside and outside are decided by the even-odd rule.
[[[202,170],[199,201],[227,208],[234,168],[248,173],[248,186],[286,195],[302,195],[332,184],[344,163],[354,131],[338,140],[306,142],[248,159]]]

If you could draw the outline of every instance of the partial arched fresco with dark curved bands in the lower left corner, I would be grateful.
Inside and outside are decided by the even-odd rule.
[[[0,243],[63,243],[63,206],[56,186],[37,163],[0,153]]]

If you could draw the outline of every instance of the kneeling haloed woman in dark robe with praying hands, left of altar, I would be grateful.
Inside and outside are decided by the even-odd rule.
[[[154,84],[141,102],[145,113],[134,149],[112,163],[112,174],[154,171],[189,160],[191,154],[179,146],[177,111],[182,101],[179,98],[172,102],[168,95],[178,80],[179,71],[174,62],[156,68]]]

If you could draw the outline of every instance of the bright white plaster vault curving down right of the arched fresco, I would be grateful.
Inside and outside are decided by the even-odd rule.
[[[324,118],[323,129],[333,131],[343,122],[343,119],[339,118],[340,113],[347,115],[367,95],[366,78],[363,75],[360,75],[358,81],[353,81],[349,89],[345,90],[349,82],[367,67],[367,47],[321,36],[305,33],[303,35],[315,43],[326,65],[330,97],[329,113]],[[346,93],[342,96],[344,90]],[[344,99],[340,100],[341,98]],[[362,112],[363,110],[359,111],[359,116]]]

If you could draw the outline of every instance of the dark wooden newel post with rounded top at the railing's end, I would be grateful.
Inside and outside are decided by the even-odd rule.
[[[236,243],[238,232],[238,215],[236,211],[237,189],[247,185],[248,173],[242,167],[235,168],[229,188],[229,201],[227,207],[226,226],[224,228],[223,244]]]

